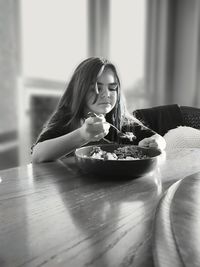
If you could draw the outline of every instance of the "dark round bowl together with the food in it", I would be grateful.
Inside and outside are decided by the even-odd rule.
[[[156,148],[102,144],[77,148],[75,158],[79,170],[93,178],[129,179],[153,171],[161,153]]]

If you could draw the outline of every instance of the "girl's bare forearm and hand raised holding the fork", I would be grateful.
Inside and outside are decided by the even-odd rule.
[[[32,162],[54,161],[88,142],[98,141],[108,134],[109,124],[103,118],[88,118],[84,124],[67,134],[39,142],[33,148]]]

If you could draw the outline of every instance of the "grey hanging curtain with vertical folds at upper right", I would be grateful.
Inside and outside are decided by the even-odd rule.
[[[200,1],[147,2],[149,105],[177,103],[200,107]]]

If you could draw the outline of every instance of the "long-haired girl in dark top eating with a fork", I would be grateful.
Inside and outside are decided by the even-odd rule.
[[[106,59],[91,57],[74,71],[53,116],[33,146],[32,161],[54,161],[91,142],[128,143],[110,124],[122,132],[132,132],[131,144],[165,148],[163,137],[127,112],[115,66]]]

